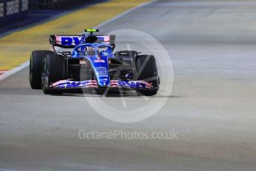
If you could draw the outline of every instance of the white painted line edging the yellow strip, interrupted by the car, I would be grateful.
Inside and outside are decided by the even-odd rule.
[[[100,27],[103,27],[104,25],[108,25],[110,22],[114,22],[116,19],[119,19],[119,18],[121,18],[122,16],[125,16],[125,15],[127,15],[128,13],[132,12],[132,10],[137,10],[138,8],[143,7],[143,6],[147,5],[147,4],[153,3],[153,2],[155,2],[155,1],[158,1],[158,0],[146,2],[146,3],[144,3],[144,4],[138,5],[137,7],[133,7],[132,9],[127,10],[127,11],[125,11],[124,13],[121,13],[121,14],[119,14],[118,16],[115,16],[114,18],[109,19],[109,20],[107,20],[106,22],[101,23],[100,25],[97,25],[95,28],[100,28]],[[11,70],[5,72],[4,74],[1,74],[1,75],[0,75],[0,81],[1,81],[1,80],[4,80],[4,79],[7,78],[7,77],[10,77],[11,75],[15,74],[15,73],[18,72],[18,71],[21,71],[22,69],[28,67],[28,65],[29,65],[29,60],[26,61],[26,62],[24,62],[24,63],[22,63],[22,65],[19,65],[19,66],[17,66],[16,68],[13,68],[13,69],[11,69]]]

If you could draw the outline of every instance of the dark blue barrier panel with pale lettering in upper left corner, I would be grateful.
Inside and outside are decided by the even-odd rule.
[[[7,25],[28,16],[29,0],[0,0],[0,25]]]

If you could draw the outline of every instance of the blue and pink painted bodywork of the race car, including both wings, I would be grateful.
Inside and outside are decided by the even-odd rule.
[[[115,58],[112,54],[113,47],[109,45],[109,36],[97,36],[98,43],[86,43],[89,36],[55,36],[58,45],[68,47],[75,46],[71,52],[71,58],[90,62],[95,73],[95,80],[59,80],[52,83],[50,88],[154,88],[151,83],[143,80],[110,80],[109,59]]]

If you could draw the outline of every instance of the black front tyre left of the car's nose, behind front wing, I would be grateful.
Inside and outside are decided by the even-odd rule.
[[[56,54],[47,55],[42,63],[42,91],[45,94],[62,94],[62,91],[49,87],[59,80],[65,80],[65,59]]]

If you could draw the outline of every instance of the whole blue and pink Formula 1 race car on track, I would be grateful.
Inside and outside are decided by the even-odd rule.
[[[156,59],[137,51],[116,51],[115,35],[51,35],[53,51],[33,51],[30,84],[45,94],[90,90],[97,94],[135,90],[153,96],[159,90]]]

